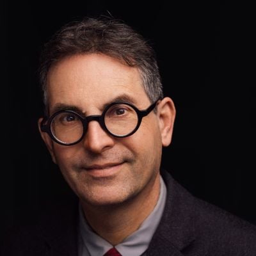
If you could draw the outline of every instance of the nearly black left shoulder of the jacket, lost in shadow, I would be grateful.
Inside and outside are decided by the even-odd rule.
[[[4,256],[45,256],[55,250],[76,252],[77,212],[76,196],[58,198],[58,201],[45,202],[42,207],[29,214],[31,220],[21,220],[4,232],[0,244],[0,255]],[[29,211],[28,211],[29,212]],[[66,255],[68,252],[56,253]],[[55,254],[54,254],[55,255]],[[72,254],[76,255],[76,254]]]

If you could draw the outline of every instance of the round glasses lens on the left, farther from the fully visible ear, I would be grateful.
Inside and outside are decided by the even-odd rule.
[[[83,136],[83,123],[74,113],[60,113],[51,122],[51,132],[62,143],[74,143]]]

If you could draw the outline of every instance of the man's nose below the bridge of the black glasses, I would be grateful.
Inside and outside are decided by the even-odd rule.
[[[84,136],[84,147],[93,153],[101,153],[113,147],[114,138],[102,129],[99,122],[90,121]]]

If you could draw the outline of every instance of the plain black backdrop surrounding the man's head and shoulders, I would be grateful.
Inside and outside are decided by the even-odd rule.
[[[1,6],[1,225],[70,193],[42,142],[38,58],[63,24],[122,19],[157,52],[177,118],[163,166],[194,195],[256,223],[252,15],[224,1],[7,1]],[[36,205],[36,206],[35,206]],[[3,229],[2,229],[3,230]]]

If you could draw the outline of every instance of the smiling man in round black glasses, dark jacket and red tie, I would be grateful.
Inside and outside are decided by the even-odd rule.
[[[38,127],[78,200],[19,231],[4,255],[256,255],[255,227],[160,170],[175,107],[138,33],[113,19],[68,24],[40,76]]]

